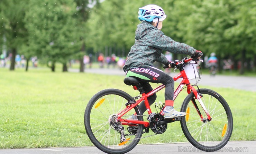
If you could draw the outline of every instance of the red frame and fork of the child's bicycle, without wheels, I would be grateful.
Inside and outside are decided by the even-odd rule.
[[[202,100],[201,100],[201,96],[198,94],[198,92],[196,91],[196,89],[191,86],[190,81],[186,75],[185,70],[181,70],[180,73],[178,75],[176,75],[173,79],[174,81],[178,80],[179,78],[183,78],[180,85],[176,88],[175,92],[174,92],[174,100],[175,98],[179,95],[179,93],[182,91],[183,87],[186,85],[187,87],[187,93],[190,94],[191,92],[194,93],[194,95],[196,96],[196,99],[198,99],[200,105],[202,106],[205,114],[208,116],[208,120],[211,120],[211,116],[207,110],[207,108],[204,106]],[[122,117],[124,114],[126,114],[129,110],[131,110],[132,108],[134,108],[135,106],[137,106],[139,103],[141,103],[144,100],[146,109],[148,114],[152,114],[152,111],[150,109],[150,105],[148,103],[147,98],[157,92],[159,92],[160,90],[162,90],[163,88],[165,88],[164,85],[160,85],[157,88],[155,88],[154,90],[152,90],[151,92],[145,94],[141,94],[142,97],[140,97],[138,100],[136,100],[136,103],[132,103],[131,105],[127,106],[124,110],[122,110],[120,113],[118,113],[117,115],[119,116],[118,121],[122,123],[122,125],[131,125],[131,124],[143,124],[144,127],[148,127],[149,123],[145,122],[145,121],[135,121],[135,120],[128,120],[128,119],[122,119],[120,117]],[[201,117],[201,120],[203,121],[203,116],[197,106],[197,104],[195,103],[195,100],[192,100],[192,103],[194,105],[194,107],[196,108],[199,116]],[[164,115],[163,110],[161,110],[160,112],[161,115]]]

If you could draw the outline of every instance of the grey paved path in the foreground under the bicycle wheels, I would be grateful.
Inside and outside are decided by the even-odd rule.
[[[226,153],[255,154],[256,141],[229,141],[219,151],[209,154]],[[127,154],[197,154],[205,153],[193,147],[190,143],[168,144],[139,144]],[[64,148],[33,148],[33,149],[7,149],[0,150],[0,154],[104,154],[94,146],[88,147],[64,147]]]

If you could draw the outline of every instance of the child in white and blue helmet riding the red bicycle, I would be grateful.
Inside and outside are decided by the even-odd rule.
[[[170,62],[163,55],[162,50],[175,54],[185,54],[193,57],[198,56],[201,51],[184,43],[175,42],[161,31],[163,20],[166,18],[164,10],[156,5],[150,4],[139,8],[139,20],[135,32],[135,44],[131,47],[127,60],[123,67],[126,77],[133,76],[143,81],[142,86],[145,93],[153,90],[149,83],[161,83],[165,85],[165,119],[183,117],[184,112],[177,112],[173,108],[174,80],[171,76],[153,67],[153,62],[161,62],[168,67],[175,67],[174,62]],[[148,102],[152,105],[156,100],[156,94],[148,97]],[[147,109],[144,102],[139,105],[142,113]],[[130,119],[137,119],[136,116]]]

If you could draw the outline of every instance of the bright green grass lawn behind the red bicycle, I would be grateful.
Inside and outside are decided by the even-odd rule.
[[[138,95],[123,83],[122,76],[62,73],[60,68],[55,73],[49,68],[28,72],[0,68],[0,77],[0,148],[90,146],[83,122],[89,99],[106,88]],[[159,85],[153,84],[156,86]],[[229,103],[234,118],[231,140],[256,139],[255,92],[200,87],[217,91]],[[164,90],[157,95],[156,101],[163,102]],[[183,90],[175,101],[175,108],[181,106],[185,96]],[[161,142],[187,142],[179,122],[168,124],[164,134],[140,141]]]

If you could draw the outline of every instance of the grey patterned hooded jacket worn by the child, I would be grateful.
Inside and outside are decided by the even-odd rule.
[[[168,62],[162,50],[175,54],[194,55],[195,49],[184,43],[175,42],[149,22],[141,22],[135,32],[135,44],[128,54],[124,71],[132,68],[153,66],[153,62]]]

